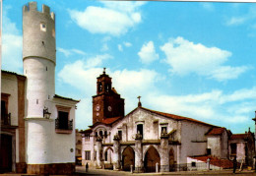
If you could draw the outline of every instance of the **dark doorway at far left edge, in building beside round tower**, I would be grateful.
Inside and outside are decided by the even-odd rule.
[[[0,173],[12,172],[12,136],[1,134]]]

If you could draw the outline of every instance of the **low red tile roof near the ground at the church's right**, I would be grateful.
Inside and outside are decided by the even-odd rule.
[[[210,158],[210,164],[222,167],[224,169],[227,168],[232,168],[233,167],[233,162],[228,159],[221,159],[219,157],[215,157],[212,155],[201,155],[201,156],[189,156],[193,159],[201,160],[203,162],[207,162],[207,159]]]

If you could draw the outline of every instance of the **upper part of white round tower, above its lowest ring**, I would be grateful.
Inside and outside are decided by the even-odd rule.
[[[55,94],[55,19],[49,7],[24,6],[23,63],[27,77],[28,117],[43,117],[45,100]]]

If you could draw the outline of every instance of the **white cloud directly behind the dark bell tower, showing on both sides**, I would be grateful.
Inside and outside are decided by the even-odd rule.
[[[79,60],[72,64],[67,64],[58,73],[58,80],[60,82],[79,89],[83,92],[84,97],[89,97],[89,100],[82,99],[82,101],[80,102],[77,113],[77,123],[82,122],[81,119],[84,119],[84,117],[89,117],[90,119],[92,119],[91,97],[92,95],[96,94],[96,78],[100,74],[102,74],[102,68],[98,68],[97,64],[96,66],[89,63],[91,63],[91,61],[89,62]],[[157,72],[144,69],[141,69],[139,71],[124,69],[113,72],[107,69],[106,74],[113,78],[112,87],[115,88],[117,92],[125,98],[126,112],[131,111],[137,106],[138,95],[146,96],[146,92],[149,92],[150,90],[154,91],[156,89],[156,82],[161,79],[160,75]],[[85,123],[83,123],[84,128],[85,126],[92,125],[92,121],[88,121],[86,123],[86,125]],[[80,125],[77,126],[81,127]]]

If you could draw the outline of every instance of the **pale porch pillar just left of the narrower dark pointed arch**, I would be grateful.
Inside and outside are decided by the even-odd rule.
[[[121,168],[120,165],[120,138],[118,135],[114,136],[114,144],[113,144],[113,170],[119,170]]]

